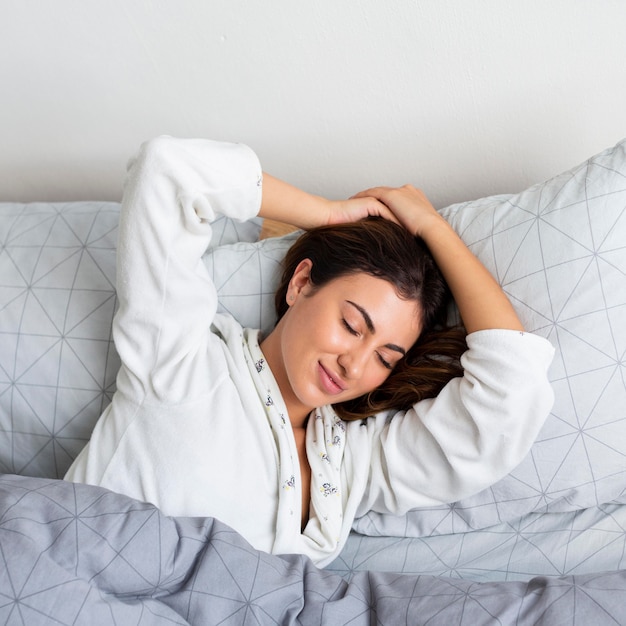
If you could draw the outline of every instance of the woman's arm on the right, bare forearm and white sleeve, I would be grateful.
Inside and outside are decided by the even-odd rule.
[[[371,464],[364,506],[401,513],[476,493],[522,460],[552,406],[554,350],[518,332],[522,323],[498,282],[421,191],[377,187],[359,195],[383,202],[424,239],[468,331],[462,377],[391,420],[377,418],[372,449],[380,459]]]

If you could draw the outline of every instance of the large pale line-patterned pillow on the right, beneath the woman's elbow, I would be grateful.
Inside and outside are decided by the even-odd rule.
[[[441,213],[555,346],[556,401],[530,454],[490,489],[402,518],[369,513],[355,529],[425,536],[626,502],[626,141],[522,193]]]

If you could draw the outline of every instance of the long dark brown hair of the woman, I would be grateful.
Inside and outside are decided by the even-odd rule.
[[[275,296],[280,319],[288,309],[289,281],[298,264],[310,259],[313,287],[349,274],[365,272],[389,281],[398,295],[419,303],[422,332],[385,382],[370,393],[334,405],[342,419],[363,419],[387,409],[408,409],[436,396],[463,373],[460,357],[467,349],[465,331],[448,323],[452,298],[424,242],[382,218],[322,226],[305,232],[288,250]]]

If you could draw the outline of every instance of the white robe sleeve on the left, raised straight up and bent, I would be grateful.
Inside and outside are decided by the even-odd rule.
[[[206,389],[216,290],[201,260],[217,214],[258,213],[262,172],[241,144],[159,137],[129,163],[117,256],[118,386],[180,401]],[[199,358],[196,358],[199,357]],[[202,367],[196,367],[198,364]]]

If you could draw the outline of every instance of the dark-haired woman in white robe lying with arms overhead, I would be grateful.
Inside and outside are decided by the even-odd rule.
[[[282,317],[260,337],[216,315],[201,262],[216,213],[304,229],[383,218],[402,226],[421,258],[419,236],[468,332],[463,376],[401,411],[340,419],[335,405],[347,416],[386,406],[370,392],[403,370],[438,314],[426,314],[425,294],[376,272],[320,284],[320,260],[296,255]],[[398,256],[376,245],[379,257]],[[245,146],[152,140],[129,169],[117,289],[117,392],[66,478],[166,514],[217,517],[268,552],[325,565],[355,516],[487,487],[519,463],[550,410],[552,347],[523,332],[497,283],[412,187],[331,202],[264,175]],[[442,354],[435,361],[454,369]]]

